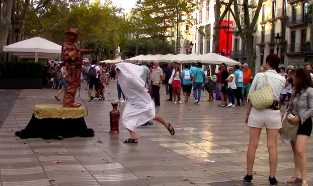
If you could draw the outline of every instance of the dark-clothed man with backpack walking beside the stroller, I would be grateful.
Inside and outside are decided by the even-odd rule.
[[[95,90],[97,91],[97,96],[99,96],[99,99],[101,100],[100,97],[100,92],[99,92],[99,79],[101,78],[101,72],[100,68],[96,65],[97,61],[93,60],[91,62],[90,69],[88,71],[88,78],[89,78],[89,91],[88,91],[88,101],[91,101],[91,93],[93,90],[93,87],[95,86]]]

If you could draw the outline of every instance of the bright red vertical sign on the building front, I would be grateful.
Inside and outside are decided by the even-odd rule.
[[[229,24],[228,24],[229,23]],[[230,56],[231,54],[231,44],[232,44],[232,28],[233,23],[232,21],[222,21],[220,26],[222,29],[219,32],[219,47],[218,51],[223,52],[225,56]],[[229,29],[227,29],[227,27]],[[228,34],[228,42],[227,42],[227,34]],[[228,52],[227,51],[227,43],[228,43]]]

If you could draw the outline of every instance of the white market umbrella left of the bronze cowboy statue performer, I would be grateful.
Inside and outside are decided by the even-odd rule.
[[[62,46],[40,37],[30,38],[3,48],[20,58],[51,59],[61,57]]]

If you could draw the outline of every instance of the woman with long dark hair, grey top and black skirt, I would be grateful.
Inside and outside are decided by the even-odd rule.
[[[289,119],[293,123],[300,123],[296,142],[291,141],[295,174],[288,183],[302,181],[302,186],[307,186],[306,171],[307,160],[305,146],[307,138],[312,131],[313,116],[313,82],[310,74],[304,68],[298,68],[293,77],[293,92],[287,112],[291,112],[294,118]]]

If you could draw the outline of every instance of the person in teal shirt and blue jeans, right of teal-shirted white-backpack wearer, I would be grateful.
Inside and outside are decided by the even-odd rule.
[[[192,84],[193,84],[193,93],[195,96],[195,102],[194,104],[200,104],[200,98],[201,98],[201,89],[202,89],[202,84],[204,80],[204,69],[202,68],[202,63],[198,62],[197,63],[197,68],[196,67],[191,67],[191,72],[193,73],[194,77],[192,79]]]

